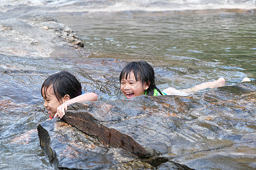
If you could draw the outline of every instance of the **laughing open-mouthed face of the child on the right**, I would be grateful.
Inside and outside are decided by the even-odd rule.
[[[144,95],[148,87],[146,82],[142,84],[141,80],[136,81],[133,71],[129,73],[127,79],[122,79],[120,84],[120,89],[127,99]]]

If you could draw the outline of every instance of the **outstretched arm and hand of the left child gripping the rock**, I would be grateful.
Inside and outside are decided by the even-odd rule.
[[[79,95],[73,99],[67,100],[59,107],[57,107],[57,113],[54,115],[54,117],[59,116],[60,118],[62,118],[65,115],[65,110],[68,109],[68,105],[83,101],[97,101],[97,99],[98,95],[94,94],[93,92],[90,92],[89,94]]]

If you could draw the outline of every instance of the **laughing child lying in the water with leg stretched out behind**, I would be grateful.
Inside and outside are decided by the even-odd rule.
[[[121,71],[119,76],[120,89],[126,99],[139,95],[179,95],[188,96],[205,88],[217,88],[225,86],[225,79],[219,78],[213,82],[206,82],[192,88],[176,90],[169,87],[163,91],[155,85],[155,73],[146,61],[130,62]]]

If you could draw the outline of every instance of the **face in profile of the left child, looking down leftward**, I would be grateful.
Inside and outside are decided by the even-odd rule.
[[[46,96],[44,96],[44,88],[42,88],[42,94],[44,98],[44,107],[46,107],[50,117],[54,117],[57,112],[57,107],[64,102],[64,97],[61,98],[60,102],[57,97],[54,95],[52,86],[49,86],[46,90]]]

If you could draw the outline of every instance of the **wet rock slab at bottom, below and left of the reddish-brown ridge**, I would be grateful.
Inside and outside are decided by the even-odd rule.
[[[82,133],[59,118],[40,124],[38,135],[40,146],[56,169],[125,167],[133,160],[141,169],[152,167],[146,162],[138,162],[137,156],[122,148],[103,145],[97,138]]]

